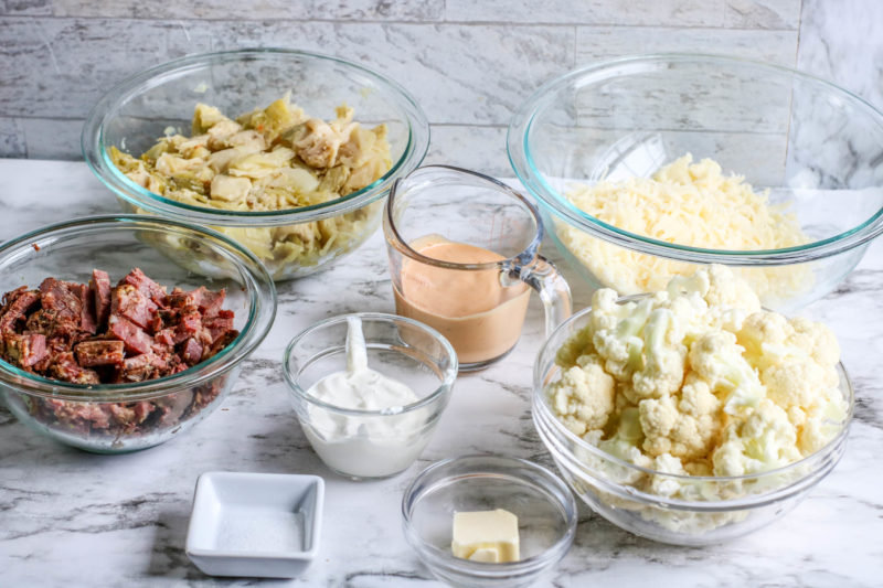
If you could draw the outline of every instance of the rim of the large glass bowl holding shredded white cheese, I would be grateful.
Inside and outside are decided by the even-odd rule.
[[[719,263],[743,266],[778,266],[812,261],[859,247],[883,234],[883,206],[881,206],[861,224],[834,236],[804,245],[779,249],[709,249],[668,243],[618,228],[582,211],[571,203],[566,196],[557,193],[549,184],[544,175],[536,170],[531,156],[529,137],[538,111],[552,101],[557,90],[576,81],[579,82],[581,86],[586,86],[607,79],[621,68],[632,67],[637,68],[637,73],[640,73],[643,72],[640,67],[661,63],[693,65],[710,63],[719,67],[755,67],[775,75],[799,78],[820,86],[827,92],[832,92],[841,99],[858,107],[872,118],[875,118],[877,126],[883,130],[883,111],[868,100],[825,78],[785,65],[714,53],[649,53],[604,60],[573,70],[543,84],[519,107],[509,124],[507,153],[510,167],[528,191],[544,207],[551,210],[555,216],[606,243],[635,249],[643,254],[689,263]]]

